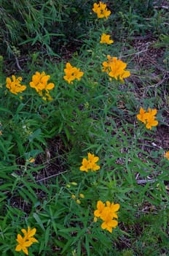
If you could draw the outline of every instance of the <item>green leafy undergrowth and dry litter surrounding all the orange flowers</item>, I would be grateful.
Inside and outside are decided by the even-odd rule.
[[[39,241],[28,255],[168,255],[167,15],[153,1],[105,1],[111,16],[98,19],[94,2],[0,1],[3,256],[24,255],[16,239],[28,226]],[[114,43],[101,44],[103,33]],[[102,72],[108,55],[127,64],[123,83]],[[67,62],[80,80],[63,78]],[[36,71],[55,84],[52,101],[29,86]],[[7,89],[11,75],[23,93]],[[141,107],[157,109],[156,127],[138,121]],[[82,172],[89,152],[101,168]],[[93,221],[98,200],[120,205],[112,233]]]

